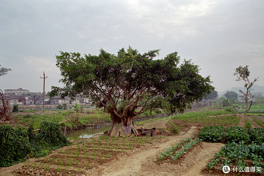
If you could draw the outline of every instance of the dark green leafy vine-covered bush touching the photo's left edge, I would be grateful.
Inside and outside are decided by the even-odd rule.
[[[29,138],[20,126],[13,128],[10,125],[0,126],[0,167],[11,165],[26,160],[29,151]]]

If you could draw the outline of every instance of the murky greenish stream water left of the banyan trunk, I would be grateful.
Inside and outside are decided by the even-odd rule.
[[[101,126],[98,129],[82,129],[82,130],[69,132],[65,136],[67,137],[68,140],[77,139],[77,138],[90,138],[99,133],[103,133],[105,131],[110,130],[111,127],[112,125]]]

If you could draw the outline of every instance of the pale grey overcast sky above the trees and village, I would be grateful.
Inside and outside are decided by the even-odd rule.
[[[264,1],[17,1],[0,0],[0,89],[43,92],[62,78],[59,51],[117,54],[131,46],[141,54],[177,51],[200,65],[221,92],[243,87],[232,75],[249,65],[264,86]]]

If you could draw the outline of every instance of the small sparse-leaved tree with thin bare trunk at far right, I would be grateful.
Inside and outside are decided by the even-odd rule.
[[[251,89],[251,87],[253,86],[253,84],[258,80],[258,78],[255,78],[253,80],[253,82],[249,81],[249,70],[248,70],[248,65],[246,65],[245,67],[242,67],[241,65],[235,69],[235,73],[233,74],[234,76],[237,76],[236,81],[241,81],[243,80],[245,82],[244,87],[247,89],[246,92],[243,92],[241,90],[239,90],[239,92],[241,92],[242,94],[244,94],[244,96],[246,96],[245,100],[246,100],[246,110],[244,115],[246,115],[247,111],[250,110],[250,107],[252,105],[252,99],[253,97],[251,97],[250,95],[250,91],[253,90]],[[248,107],[248,102],[250,101],[250,106]]]

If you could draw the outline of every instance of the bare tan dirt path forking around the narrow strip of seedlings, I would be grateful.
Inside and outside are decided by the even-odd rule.
[[[157,149],[142,151],[131,156],[123,156],[119,161],[113,163],[110,167],[103,169],[100,173],[102,176],[122,176],[122,175],[181,175],[183,172],[188,172],[185,175],[197,175],[200,170],[206,165],[206,161],[213,157],[219,148],[224,146],[220,143],[207,144],[202,142],[200,147],[194,149],[191,154],[188,153],[188,158],[184,159],[183,164],[170,164],[159,161],[157,159],[160,152],[164,152],[168,147],[172,147],[178,141],[185,138],[194,138],[199,132],[199,127],[191,127],[190,130],[179,136],[168,136],[169,141],[160,144]],[[197,136],[197,135],[196,135]],[[189,158],[191,157],[191,158]]]

